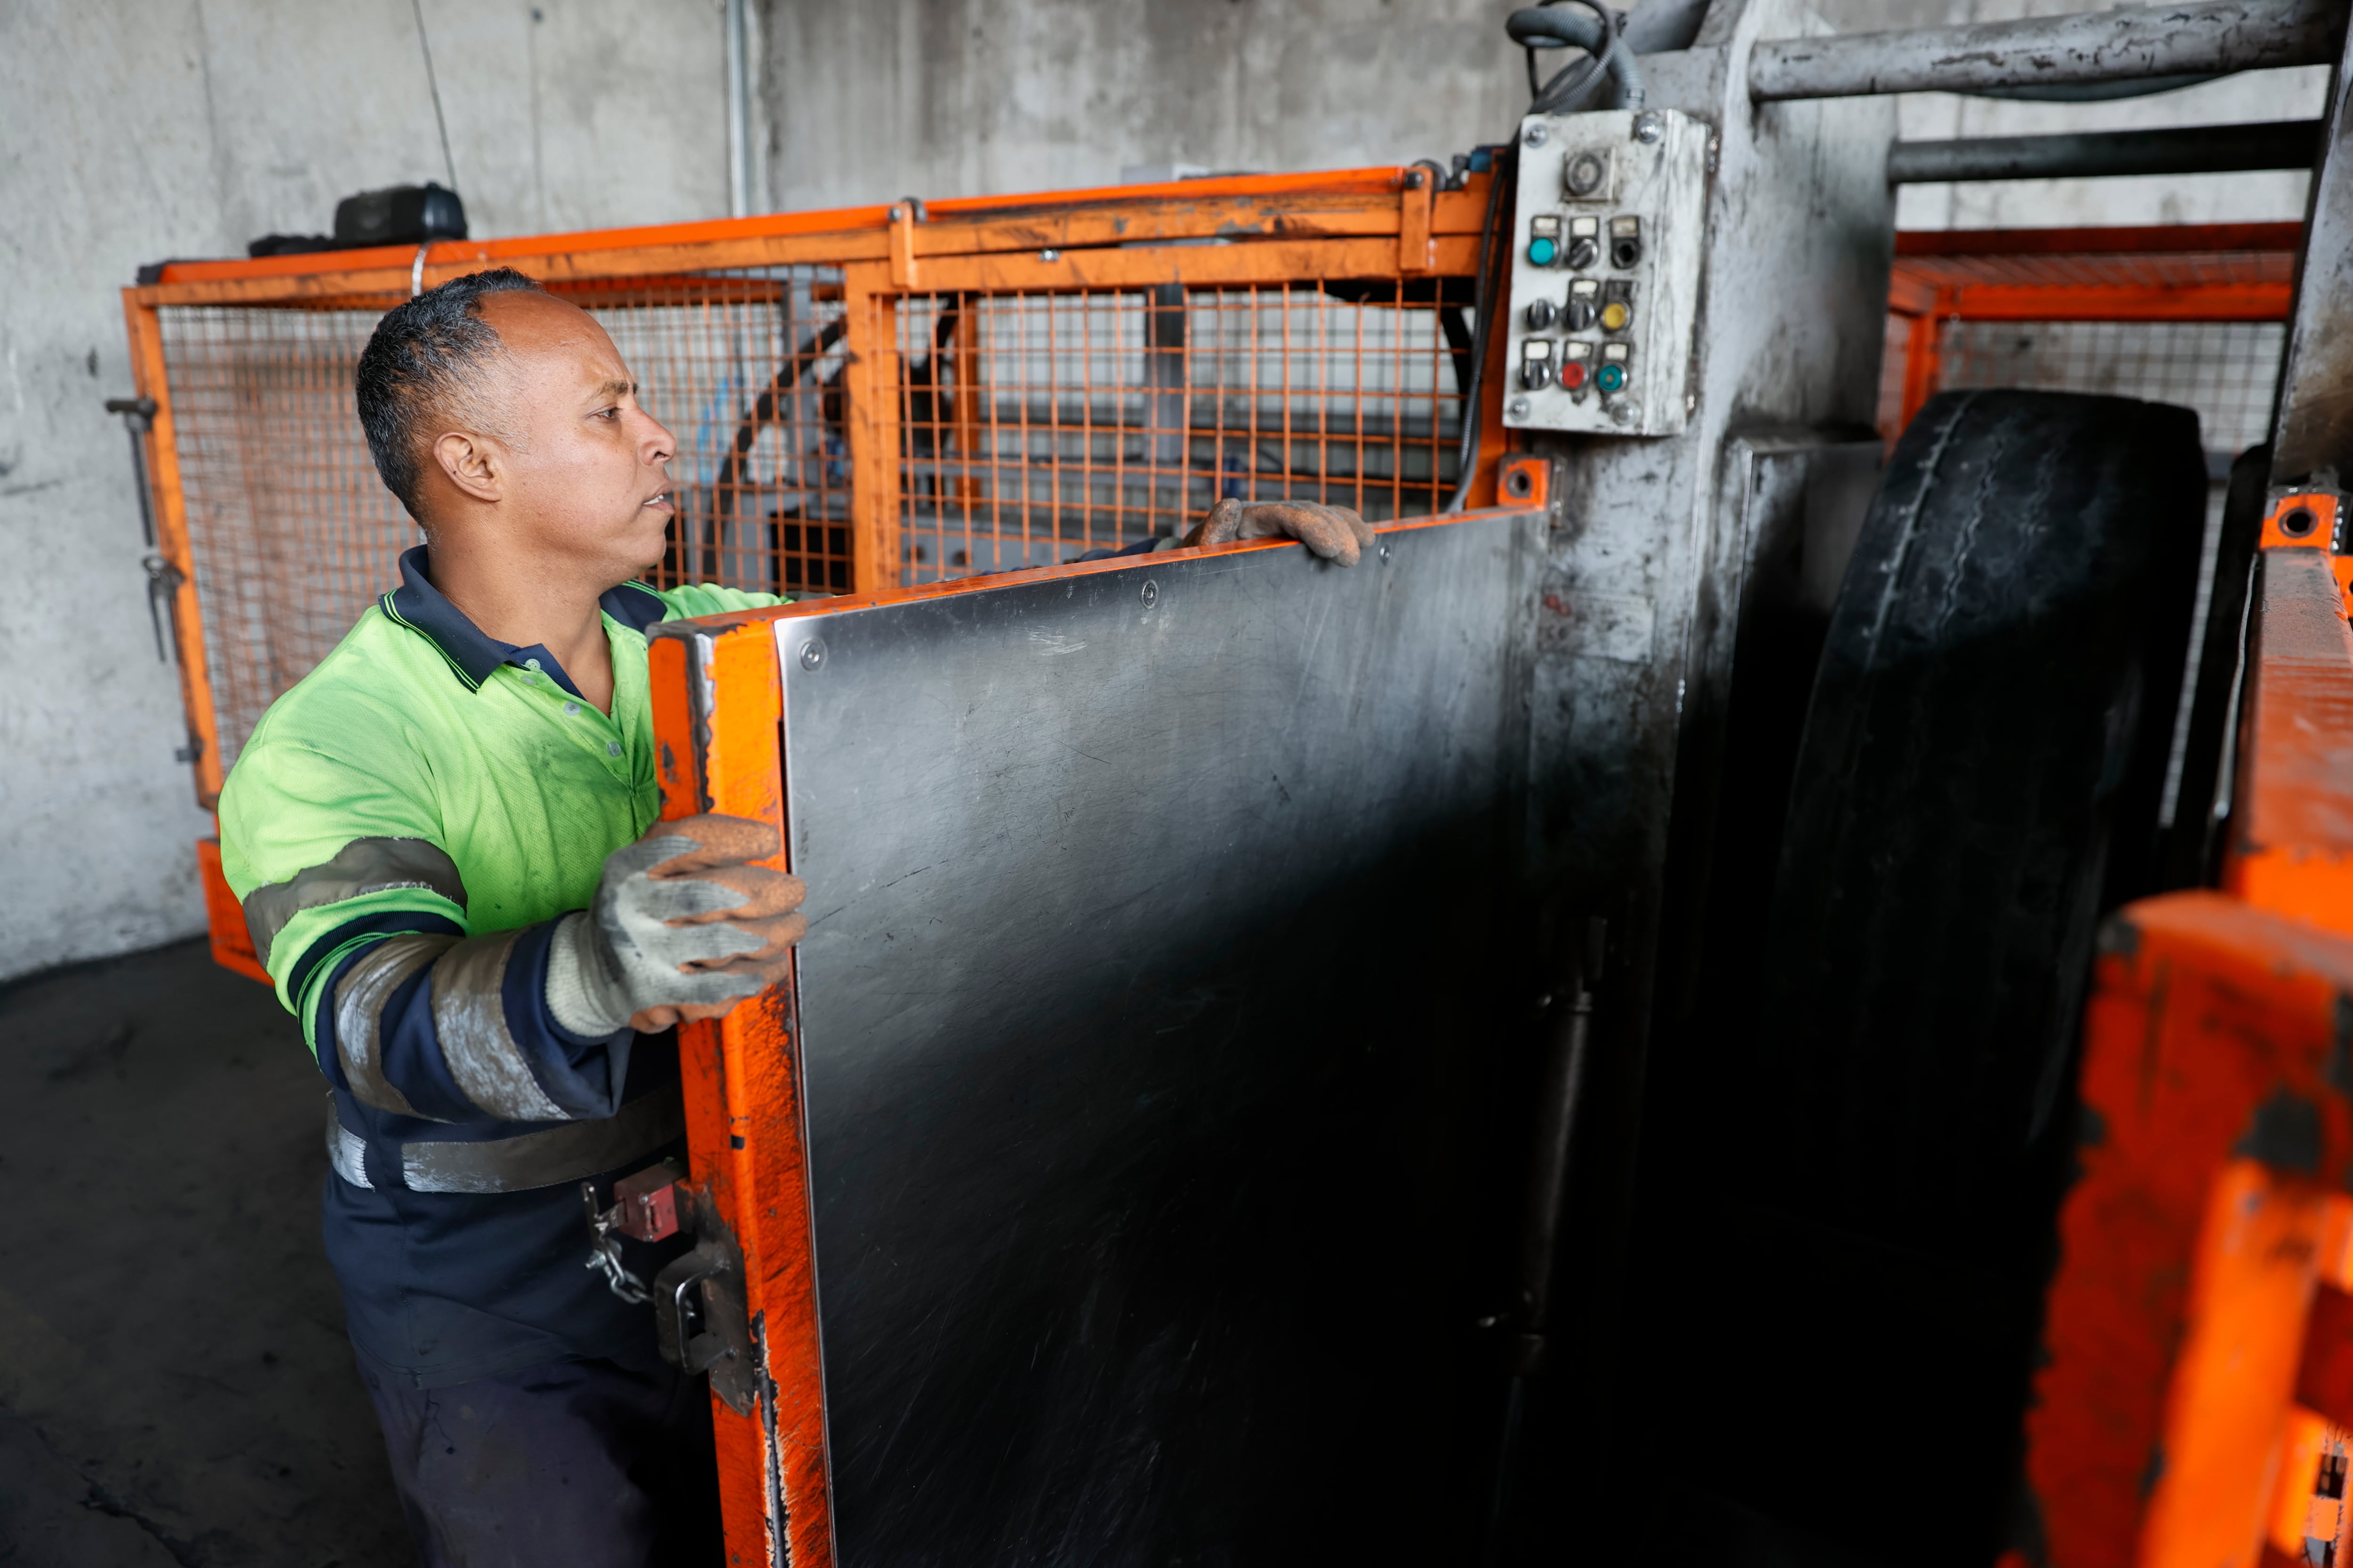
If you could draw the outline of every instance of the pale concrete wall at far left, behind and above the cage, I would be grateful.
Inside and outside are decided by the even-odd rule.
[[[482,235],[727,212],[715,0],[421,0]],[[409,0],[0,2],[0,978],[202,929],[122,425],[144,261],[442,169]]]

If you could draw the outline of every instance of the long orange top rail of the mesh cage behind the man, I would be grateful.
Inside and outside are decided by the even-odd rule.
[[[1407,181],[1426,169],[1344,169],[1334,174],[1186,181],[1113,190],[1073,190],[972,202],[932,202],[927,219],[892,207],[816,214],[769,214],[713,223],[614,228],[518,240],[442,240],[424,247],[424,282],[515,266],[534,277],[628,277],[666,270],[845,261],[889,261],[913,270],[932,256],[993,252],[1085,249],[1153,240],[1271,240],[1400,235]],[[1475,176],[1464,190],[1428,195],[1433,235],[1475,235],[1485,219],[1485,188]],[[405,296],[416,266],[414,247],[261,256],[252,261],[174,261],[162,280],[139,289],[151,306],[304,303],[332,296]],[[1393,261],[1379,268],[1393,270]]]

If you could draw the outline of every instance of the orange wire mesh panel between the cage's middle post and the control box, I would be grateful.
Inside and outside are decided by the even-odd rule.
[[[908,583],[1184,534],[1224,496],[1381,522],[1454,487],[1471,339],[1433,282],[889,308]]]

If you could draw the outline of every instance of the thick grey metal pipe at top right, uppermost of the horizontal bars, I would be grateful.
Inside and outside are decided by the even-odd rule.
[[[1786,38],[1758,45],[1748,96],[1838,99],[1972,92],[2334,63],[2334,0],[2193,0],[1958,28]]]

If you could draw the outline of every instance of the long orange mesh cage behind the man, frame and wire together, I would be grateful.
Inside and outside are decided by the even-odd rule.
[[[659,585],[852,592],[1181,534],[1221,496],[1438,510],[1485,197],[1351,169],[169,263],[125,308],[198,797],[419,541],[353,414],[412,287],[513,266],[605,324],[678,437]]]

